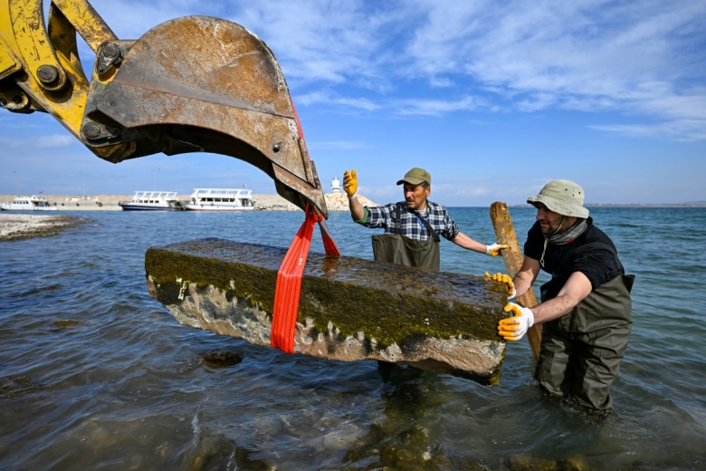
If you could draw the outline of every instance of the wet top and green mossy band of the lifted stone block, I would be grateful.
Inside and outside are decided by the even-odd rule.
[[[285,254],[280,247],[203,239],[151,247],[145,266],[162,287],[161,303],[178,303],[181,278],[199,287],[214,285],[272,313]],[[506,300],[502,286],[482,276],[310,253],[298,322],[310,317],[320,332],[331,322],[341,335],[365,332],[382,345],[416,335],[498,341]]]

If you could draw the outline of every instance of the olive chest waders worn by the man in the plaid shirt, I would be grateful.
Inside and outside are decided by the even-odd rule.
[[[439,270],[440,252],[439,235],[429,222],[418,213],[416,216],[425,225],[431,235],[424,242],[402,235],[402,217],[400,205],[396,206],[395,234],[373,235],[373,255],[376,262],[420,266]]]

